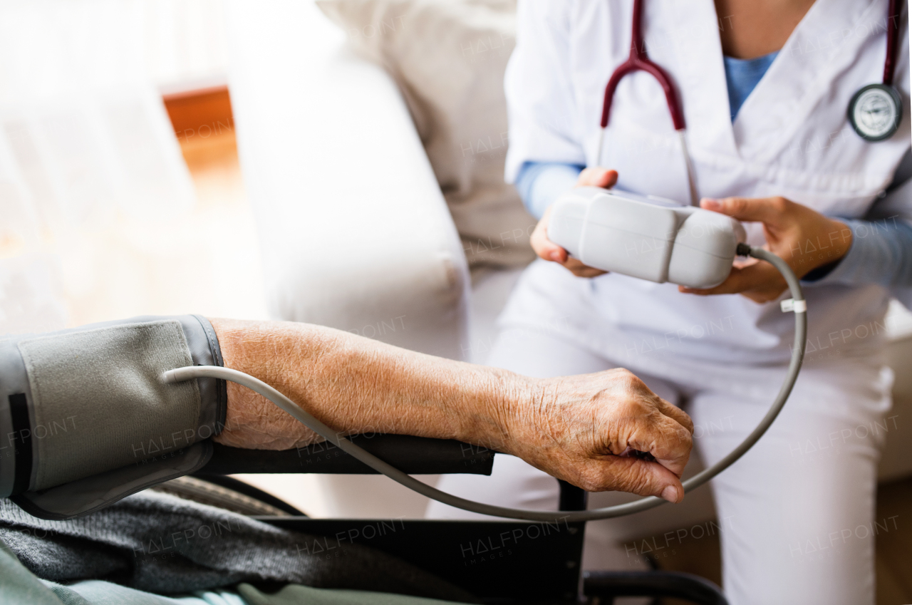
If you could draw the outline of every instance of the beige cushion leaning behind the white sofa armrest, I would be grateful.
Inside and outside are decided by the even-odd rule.
[[[515,0],[316,4],[398,82],[470,266],[532,260],[535,220],[503,183],[503,71],[515,42]]]

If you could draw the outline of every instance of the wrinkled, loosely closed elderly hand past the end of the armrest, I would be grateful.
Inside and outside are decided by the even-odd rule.
[[[535,390],[514,406],[504,451],[586,491],[684,497],[693,422],[634,374],[547,379]]]

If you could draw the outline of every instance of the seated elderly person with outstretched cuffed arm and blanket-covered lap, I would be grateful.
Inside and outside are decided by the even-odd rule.
[[[16,503],[0,499],[0,601],[432,605],[444,601],[389,592],[468,596],[402,561],[352,544],[327,557],[300,548],[301,535],[212,506],[147,492],[115,502],[198,470],[211,440],[261,450],[323,441],[233,382],[161,381],[162,371],[212,364],[275,385],[341,434],[383,427],[457,439],[588,490],[684,497],[693,425],[627,370],[527,378],[337,329],[200,316],[18,335],[0,339],[9,402],[0,402],[0,427],[14,429],[0,443],[0,493]]]

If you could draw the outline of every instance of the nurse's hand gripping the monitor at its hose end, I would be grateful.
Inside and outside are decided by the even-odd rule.
[[[839,260],[852,245],[852,230],[807,206],[784,197],[700,200],[700,207],[727,214],[739,221],[763,224],[767,250],[781,256],[799,278],[811,270]],[[769,263],[755,258],[732,267],[731,275],[717,287],[705,290],[679,286],[681,292],[698,294],[741,294],[754,302],[778,298],[788,285]]]

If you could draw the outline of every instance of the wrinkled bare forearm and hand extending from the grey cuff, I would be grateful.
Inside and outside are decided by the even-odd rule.
[[[224,365],[275,386],[340,433],[458,439],[517,455],[589,491],[683,497],[692,423],[627,370],[532,379],[301,323],[212,319]],[[229,383],[216,440],[287,449],[320,438]],[[656,461],[627,456],[629,450]]]

